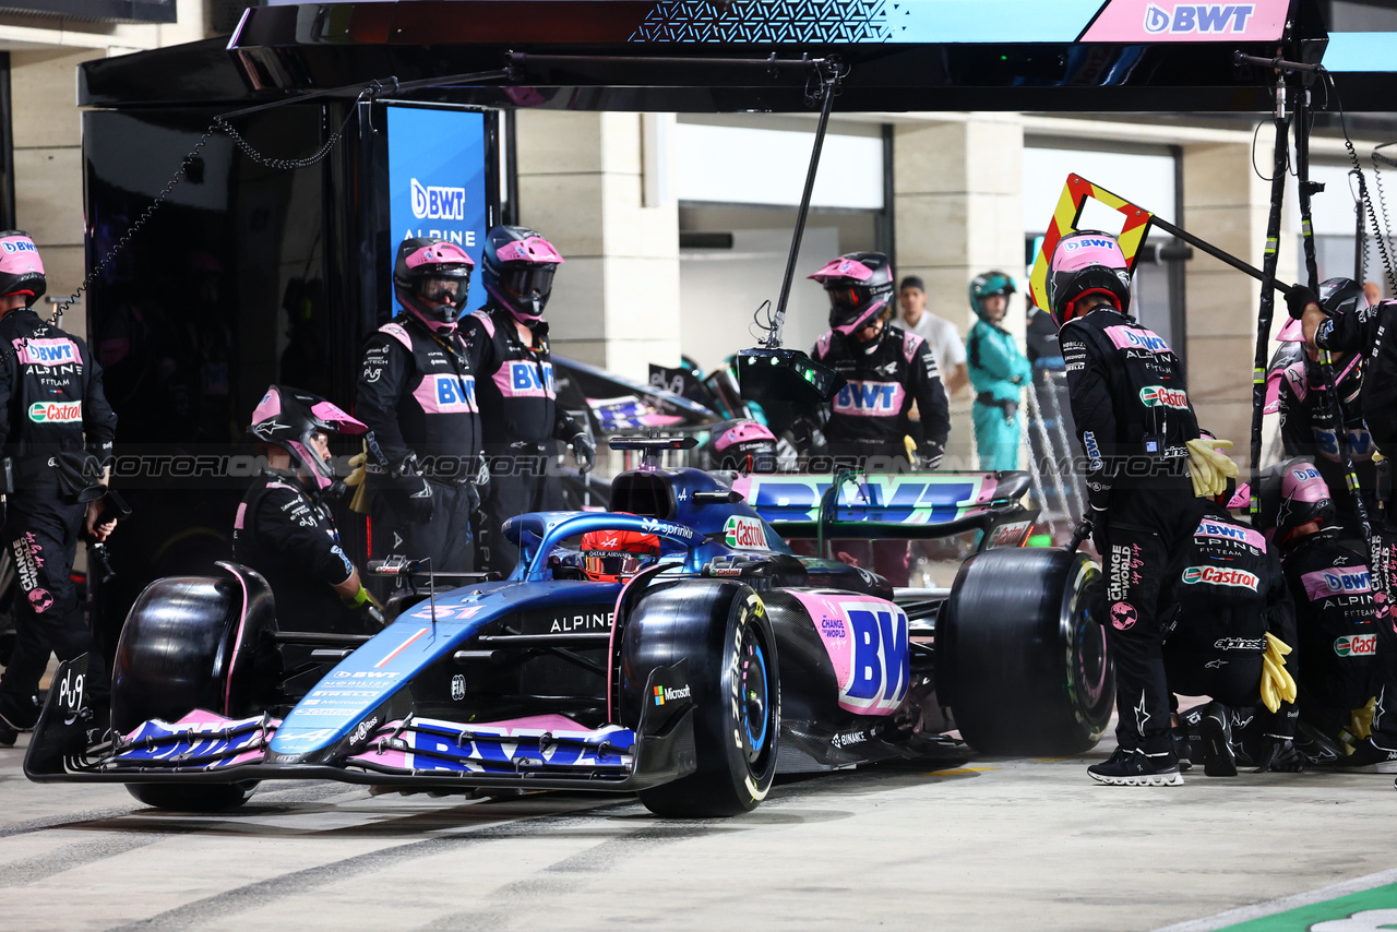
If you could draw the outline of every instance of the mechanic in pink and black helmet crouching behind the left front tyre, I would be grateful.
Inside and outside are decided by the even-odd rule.
[[[381,615],[339,546],[328,503],[345,493],[330,435],[367,428],[319,395],[271,386],[247,428],[267,457],[233,520],[233,556],[261,573],[286,627],[372,634]]]

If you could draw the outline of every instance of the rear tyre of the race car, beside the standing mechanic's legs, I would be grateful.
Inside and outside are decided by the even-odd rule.
[[[961,736],[986,755],[1076,755],[1115,703],[1099,577],[1081,553],[1006,548],[961,566],[936,625],[936,682]]]

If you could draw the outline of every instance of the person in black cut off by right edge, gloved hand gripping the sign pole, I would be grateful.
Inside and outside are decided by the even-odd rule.
[[[1296,286],[1285,296],[1291,317],[1301,321],[1306,347],[1330,352],[1354,352],[1366,356],[1366,372],[1359,395],[1363,422],[1373,444],[1387,460],[1397,458],[1397,302],[1369,306],[1365,300],[1344,302],[1337,307],[1322,306],[1317,295]],[[1389,464],[1390,465],[1390,464]],[[1352,757],[1363,766],[1397,764],[1397,483],[1390,483],[1384,507],[1373,520],[1370,539],[1373,602],[1377,639],[1373,655],[1377,701],[1373,708],[1372,735],[1355,749]]]

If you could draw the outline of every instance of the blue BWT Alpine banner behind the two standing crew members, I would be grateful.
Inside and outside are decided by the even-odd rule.
[[[485,115],[388,108],[388,198],[393,256],[409,236],[440,236],[475,260],[467,312],[485,303]],[[391,259],[390,259],[391,261]],[[393,270],[388,270],[393,275]],[[394,302],[394,310],[398,310]]]

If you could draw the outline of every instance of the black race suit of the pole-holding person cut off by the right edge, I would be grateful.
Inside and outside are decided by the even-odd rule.
[[[1356,352],[1366,356],[1359,407],[1377,450],[1397,457],[1397,302],[1334,314],[1319,326],[1315,342],[1322,349]],[[1387,464],[1390,474],[1391,464]],[[1377,710],[1373,714],[1373,745],[1397,750],[1397,485],[1389,478],[1386,500],[1373,520],[1372,559],[1376,591],[1377,651],[1373,657],[1377,682]],[[1336,500],[1341,497],[1331,490]]]

